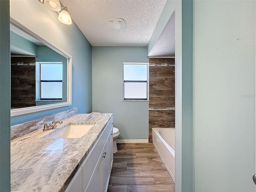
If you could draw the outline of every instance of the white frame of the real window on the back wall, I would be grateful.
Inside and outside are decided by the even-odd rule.
[[[124,80],[124,65],[146,65],[147,66],[147,80]],[[123,62],[123,101],[148,101],[148,89],[149,89],[149,83],[148,83],[148,76],[149,76],[149,67],[148,67],[148,63],[144,63],[144,62]],[[125,82],[146,82],[146,97],[147,98],[124,98],[124,83]]]

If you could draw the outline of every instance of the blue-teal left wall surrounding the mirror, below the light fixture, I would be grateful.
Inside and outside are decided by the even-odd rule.
[[[14,116],[11,118],[11,125],[76,107],[78,113],[91,112],[92,46],[76,24],[74,22],[71,25],[62,24],[56,12],[38,1],[11,0],[10,14],[72,56],[72,105]],[[40,14],[44,15],[44,19],[38,20],[35,17]]]

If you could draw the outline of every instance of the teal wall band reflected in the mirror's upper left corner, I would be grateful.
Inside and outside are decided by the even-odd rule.
[[[25,50],[31,54],[38,54],[38,46],[29,40],[26,40],[22,36],[10,31],[10,44],[14,47]]]

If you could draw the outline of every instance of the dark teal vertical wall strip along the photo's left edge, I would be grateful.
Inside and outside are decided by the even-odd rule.
[[[0,191],[10,191],[10,24],[8,0],[0,1]]]

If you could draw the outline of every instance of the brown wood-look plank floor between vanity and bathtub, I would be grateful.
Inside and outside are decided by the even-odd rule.
[[[152,143],[117,144],[108,192],[174,192],[175,184]]]

